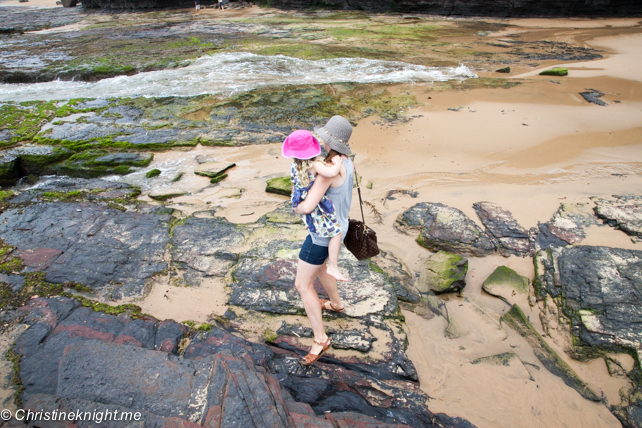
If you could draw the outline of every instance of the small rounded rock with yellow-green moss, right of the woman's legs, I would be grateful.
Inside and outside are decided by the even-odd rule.
[[[466,286],[468,259],[446,251],[438,251],[428,259],[417,283],[421,293],[457,292]]]

